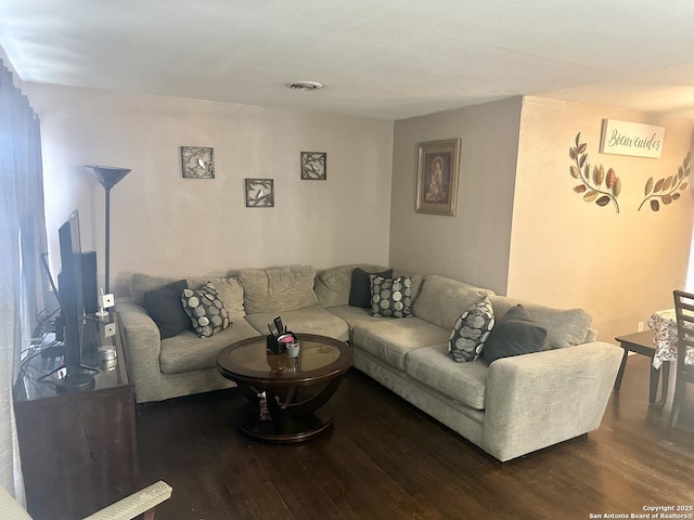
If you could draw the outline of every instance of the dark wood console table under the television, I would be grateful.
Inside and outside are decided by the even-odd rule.
[[[107,336],[107,323],[115,324],[114,336]],[[82,363],[99,368],[93,388],[59,393],[52,381],[61,373],[37,381],[61,362],[43,359],[38,350],[22,365],[15,388],[27,509],[36,520],[83,518],[138,485],[134,387],[117,313],[88,320],[83,334]],[[106,346],[116,347],[116,360],[100,361],[98,349]]]

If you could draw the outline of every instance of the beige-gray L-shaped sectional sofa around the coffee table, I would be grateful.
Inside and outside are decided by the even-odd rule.
[[[354,366],[457,431],[499,460],[581,435],[600,426],[622,351],[595,341],[591,317],[579,309],[523,306],[547,328],[548,350],[455,363],[448,341],[458,317],[489,299],[497,320],[518,300],[437,275],[411,274],[412,317],[372,316],[348,304],[351,272],[342,265],[240,270],[211,282],[233,324],[209,338],[187,330],[159,339],[143,307],[144,294],[174,280],[134,274],[130,298],[116,310],[127,338],[138,402],[160,401],[233,386],[216,369],[217,353],[231,342],[267,334],[278,314],[297,333],[331,336],[354,347]],[[394,273],[398,276],[403,273]]]

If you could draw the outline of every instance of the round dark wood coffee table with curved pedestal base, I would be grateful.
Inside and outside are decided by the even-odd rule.
[[[217,355],[217,368],[234,381],[248,403],[239,428],[248,437],[275,443],[308,441],[325,431],[332,417],[318,408],[333,395],[351,366],[351,347],[312,334],[297,334],[299,354],[273,354],[266,338],[244,339]]]

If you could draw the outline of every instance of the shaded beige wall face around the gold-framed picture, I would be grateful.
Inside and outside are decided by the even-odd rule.
[[[520,98],[396,121],[390,264],[505,292]],[[417,145],[461,139],[458,211],[417,213]]]

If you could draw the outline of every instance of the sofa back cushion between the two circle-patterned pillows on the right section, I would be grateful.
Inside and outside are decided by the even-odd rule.
[[[412,312],[415,316],[450,332],[458,317],[485,296],[488,289],[446,278],[435,274],[424,278],[420,296],[414,300]],[[492,302],[493,308],[493,302]]]

